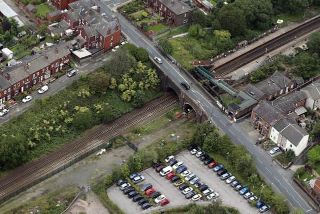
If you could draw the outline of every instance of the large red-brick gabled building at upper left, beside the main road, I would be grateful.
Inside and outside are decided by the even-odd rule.
[[[77,35],[79,48],[105,52],[120,44],[118,20],[102,17],[100,7],[89,2],[80,0],[69,4],[69,10],[62,13],[61,19],[58,27],[48,27],[51,35]]]

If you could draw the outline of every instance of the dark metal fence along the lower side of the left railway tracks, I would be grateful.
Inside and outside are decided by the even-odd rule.
[[[41,182],[41,181],[43,181],[43,180],[45,180],[45,179],[47,179],[47,178],[49,178],[49,177],[52,177],[52,176],[55,175],[56,173],[58,173],[58,172],[60,172],[60,171],[62,171],[62,170],[64,170],[64,169],[66,169],[67,167],[69,167],[69,166],[73,165],[74,163],[82,160],[83,158],[86,158],[87,156],[89,156],[89,155],[91,155],[91,154],[99,151],[100,149],[102,149],[102,148],[110,148],[111,146],[112,146],[112,142],[110,142],[110,143],[103,143],[103,144],[100,144],[100,145],[98,145],[97,147],[95,147],[95,148],[93,148],[93,149],[91,149],[91,150],[89,150],[89,151],[87,151],[87,152],[85,152],[85,153],[83,153],[83,154],[81,154],[81,155],[79,155],[79,156],[75,156],[74,159],[72,159],[72,160],[70,160],[69,162],[65,163],[63,166],[60,166],[59,168],[54,169],[53,171],[51,171],[51,172],[43,175],[42,177],[34,180],[33,182],[31,182],[31,183],[29,183],[29,184],[27,184],[27,185],[25,185],[25,186],[23,186],[23,187],[15,190],[15,191],[12,192],[11,194],[9,194],[9,195],[1,198],[1,199],[0,199],[0,203],[3,203],[4,201],[7,201],[7,200],[10,199],[11,197],[14,197],[14,196],[20,194],[21,192],[27,190],[28,188],[34,186],[35,184],[38,184],[39,182]]]

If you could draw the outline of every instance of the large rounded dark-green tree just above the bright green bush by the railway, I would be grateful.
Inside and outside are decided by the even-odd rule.
[[[232,4],[218,9],[216,19],[219,21],[221,28],[228,30],[233,37],[245,35],[247,29],[244,13]]]

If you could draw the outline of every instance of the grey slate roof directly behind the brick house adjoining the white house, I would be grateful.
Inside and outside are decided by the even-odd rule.
[[[306,96],[303,92],[296,91],[273,100],[272,105],[283,112],[288,112],[296,108],[295,104],[297,102],[305,99]]]

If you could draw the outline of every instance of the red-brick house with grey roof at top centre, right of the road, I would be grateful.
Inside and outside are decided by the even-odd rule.
[[[152,0],[151,6],[160,17],[164,18],[165,22],[173,27],[190,22],[193,11],[188,1],[180,0]]]

